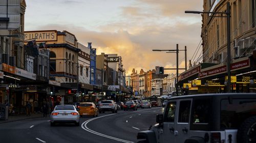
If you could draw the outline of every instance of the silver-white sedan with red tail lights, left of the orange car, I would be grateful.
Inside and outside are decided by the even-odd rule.
[[[51,112],[51,126],[56,123],[74,123],[79,126],[79,109],[74,105],[56,105]]]

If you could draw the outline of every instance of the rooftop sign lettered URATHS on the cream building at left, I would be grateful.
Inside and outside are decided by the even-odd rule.
[[[57,31],[35,31],[24,32],[25,41],[35,39],[37,42],[57,41]]]

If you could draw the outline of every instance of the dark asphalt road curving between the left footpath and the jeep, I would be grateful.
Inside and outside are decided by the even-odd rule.
[[[38,118],[0,124],[0,142],[136,142],[139,131],[156,123],[161,107],[137,111],[105,112],[99,117],[82,117],[80,126],[50,127],[50,118]]]

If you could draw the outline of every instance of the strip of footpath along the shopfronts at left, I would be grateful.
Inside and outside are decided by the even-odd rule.
[[[47,116],[49,116],[49,114]],[[8,120],[0,120],[0,124],[15,122],[15,121],[22,121],[22,120],[27,120],[27,119],[35,119],[35,118],[44,118],[44,117],[42,117],[41,113],[33,113],[30,116],[27,116],[27,115],[10,115],[10,116],[8,116]]]

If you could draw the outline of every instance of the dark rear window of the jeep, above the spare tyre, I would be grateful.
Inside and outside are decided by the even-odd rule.
[[[256,98],[221,100],[222,129],[239,128],[251,116],[256,116]]]

